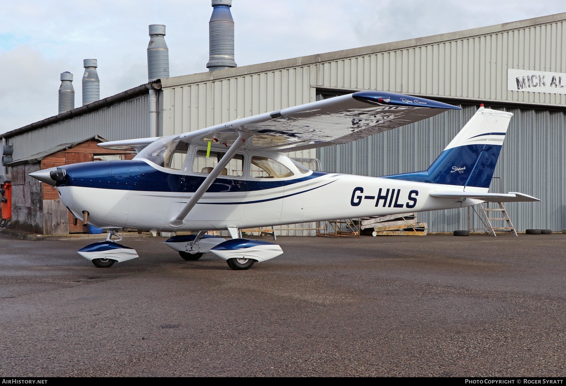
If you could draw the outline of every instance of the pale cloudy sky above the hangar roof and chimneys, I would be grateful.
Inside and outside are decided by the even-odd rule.
[[[566,11],[555,0],[234,0],[239,66]],[[207,71],[209,0],[0,0],[0,133],[57,114],[59,74],[98,59],[101,97],[147,82],[148,25],[165,24],[170,75]]]

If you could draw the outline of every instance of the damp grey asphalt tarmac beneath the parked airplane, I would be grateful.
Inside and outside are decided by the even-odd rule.
[[[563,234],[280,237],[249,271],[163,241],[96,268],[0,237],[0,375],[566,373]]]

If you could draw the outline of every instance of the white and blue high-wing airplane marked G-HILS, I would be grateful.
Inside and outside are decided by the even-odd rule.
[[[361,91],[185,134],[101,143],[134,148],[137,155],[29,175],[55,186],[76,218],[108,229],[106,241],[79,250],[101,268],[138,257],[134,249],[112,241],[122,228],[198,231],[165,244],[186,260],[212,252],[239,270],[282,250],[239,238],[238,229],[463,208],[482,201],[539,201],[517,192],[488,192],[513,114],[483,105],[427,170],[379,178],[322,173],[285,156],[355,141],[449,109],[460,108]],[[207,234],[226,229],[231,239]]]

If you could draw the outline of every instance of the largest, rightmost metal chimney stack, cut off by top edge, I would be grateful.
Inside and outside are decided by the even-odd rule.
[[[237,67],[234,62],[234,19],[232,0],[212,0],[212,16],[208,22],[208,71]]]

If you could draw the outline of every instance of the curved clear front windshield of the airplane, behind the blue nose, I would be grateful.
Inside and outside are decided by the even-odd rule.
[[[188,143],[180,140],[178,135],[171,135],[147,145],[134,158],[145,158],[164,168],[181,170],[187,152]]]

